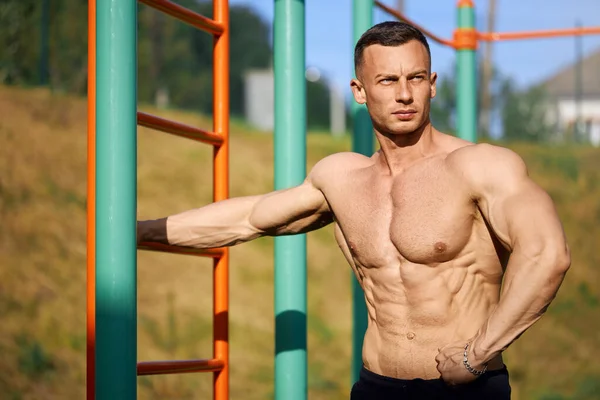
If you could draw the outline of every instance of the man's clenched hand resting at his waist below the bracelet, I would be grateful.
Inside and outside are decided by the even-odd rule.
[[[478,377],[469,372],[463,364],[465,344],[466,342],[456,342],[446,345],[439,349],[439,353],[435,357],[442,380],[448,385],[463,385]],[[471,368],[478,371],[484,369],[483,363],[476,360],[472,352],[468,352],[468,359]]]

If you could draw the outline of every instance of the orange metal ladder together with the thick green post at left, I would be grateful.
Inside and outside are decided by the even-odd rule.
[[[140,0],[214,37],[213,132],[137,112],[136,0],[88,4],[87,398],[136,397],[136,376],[213,372],[229,397],[228,251],[142,243],[138,249],[214,259],[213,358],[137,362],[136,125],[212,145],[213,200],[229,196],[229,4],[213,19],[167,0]]]

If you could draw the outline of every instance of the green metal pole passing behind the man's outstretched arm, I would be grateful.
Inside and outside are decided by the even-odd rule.
[[[304,0],[275,0],[275,189],[306,176]],[[275,399],[307,397],[306,235],[275,238]]]

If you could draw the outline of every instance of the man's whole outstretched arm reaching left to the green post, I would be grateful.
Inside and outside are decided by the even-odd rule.
[[[261,196],[222,200],[166,218],[138,222],[138,244],[159,242],[199,249],[233,246],[261,236],[290,235],[332,222],[323,193],[310,178]]]

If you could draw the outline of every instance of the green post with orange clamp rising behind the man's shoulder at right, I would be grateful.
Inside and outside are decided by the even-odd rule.
[[[458,29],[475,29],[475,10],[471,1],[458,4]],[[477,59],[475,49],[457,50],[457,128],[461,139],[477,141]]]

